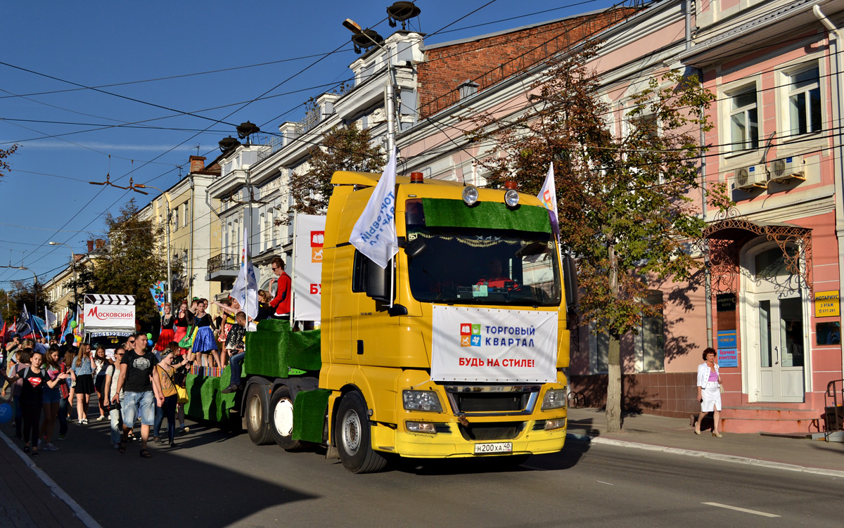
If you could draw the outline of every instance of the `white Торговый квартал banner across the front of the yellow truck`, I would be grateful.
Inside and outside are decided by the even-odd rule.
[[[557,380],[557,313],[433,306],[435,381]]]

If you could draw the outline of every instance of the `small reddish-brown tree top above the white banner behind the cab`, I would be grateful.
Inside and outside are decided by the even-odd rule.
[[[311,149],[308,170],[290,177],[290,193],[296,213],[324,214],[336,170],[381,172],[386,164],[381,147],[372,143],[368,128],[333,127],[322,135],[322,142]],[[289,218],[287,219],[289,221]]]

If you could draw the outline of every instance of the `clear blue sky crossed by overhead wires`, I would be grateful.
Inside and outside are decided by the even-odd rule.
[[[48,241],[83,252],[85,240],[102,237],[103,214],[129,196],[89,181],[109,174],[125,186],[131,175],[135,183],[165,189],[189,155],[214,159],[217,142],[236,137],[231,125],[249,120],[275,132],[282,121],[300,120],[309,97],[350,77],[356,56],[342,21],[390,35],[385,9],[391,3],[4,3],[0,148],[15,142],[20,148],[0,180],[0,265],[30,267],[46,282],[70,253]],[[611,2],[416,4],[422,13],[409,29],[430,35],[425,43],[431,45]],[[144,122],[126,126],[138,121]],[[149,200],[135,197],[141,205]],[[0,269],[0,288],[14,279],[31,280],[32,273]]]

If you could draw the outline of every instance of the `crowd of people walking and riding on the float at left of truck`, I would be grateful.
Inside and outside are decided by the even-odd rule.
[[[15,436],[23,441],[24,452],[38,456],[40,450],[58,450],[53,440],[67,438],[68,422],[88,425],[92,395],[97,396],[92,419],[110,420],[111,446],[120,453],[135,439],[138,421],[141,457],[151,457],[150,430],[155,443],[175,447],[176,422],[180,434],[189,432],[184,413],[188,369],[194,364],[219,369],[231,364],[231,383],[224,392],[236,391],[247,328],[262,319],[289,320],[289,276],[279,257],[273,259],[272,267],[279,288],[272,299],[264,290],[258,293],[257,314],[247,316],[233,298],[214,302],[220,312],[216,318],[208,314],[208,299],[184,301],[176,313],[165,304],[160,335],[149,350],[152,341],[143,332],[127,337],[113,350],[99,345],[93,351],[73,334],[61,344],[46,338],[13,337],[3,348],[0,377],[3,397],[8,394],[13,402]],[[163,439],[160,430],[165,418]]]

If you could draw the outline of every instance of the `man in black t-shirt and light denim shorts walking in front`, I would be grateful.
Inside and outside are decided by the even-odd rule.
[[[127,437],[129,429],[135,423],[135,418],[141,418],[141,456],[149,458],[147,440],[149,439],[149,428],[155,421],[155,401],[159,406],[164,403],[164,394],[161,392],[158,376],[154,376],[153,370],[158,364],[158,359],[153,353],[147,352],[147,335],[138,332],[135,335],[135,348],[123,354],[120,362],[120,377],[117,379],[115,396],[111,401],[118,401],[120,390],[123,390],[123,437],[120,441],[121,453],[126,452]]]

